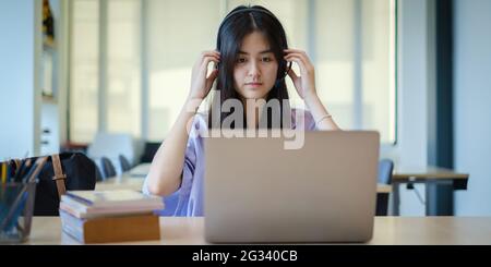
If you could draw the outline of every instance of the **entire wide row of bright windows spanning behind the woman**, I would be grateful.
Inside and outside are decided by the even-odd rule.
[[[104,1],[108,2],[107,12],[100,13],[106,14],[107,24],[99,23],[97,16],[98,2]],[[319,96],[339,125],[346,130],[378,130],[382,143],[393,144],[395,2],[74,0],[71,90],[76,101],[71,104],[72,139],[89,141],[97,130],[135,136],[144,133],[142,137],[153,141],[165,138],[189,93],[194,61],[203,50],[216,46],[221,19],[238,4],[262,4],[282,21],[289,46],[310,56]],[[190,7],[200,12],[190,11]],[[104,25],[107,41],[99,41],[98,31]],[[106,47],[100,49],[99,43]],[[107,54],[105,65],[99,54]],[[146,60],[142,61],[142,54]],[[99,73],[106,73],[107,80],[107,100],[100,106]],[[302,107],[289,78],[287,86],[292,105]],[[107,123],[97,126],[99,118]]]

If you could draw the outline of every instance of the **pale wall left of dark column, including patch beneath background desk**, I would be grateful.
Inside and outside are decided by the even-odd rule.
[[[429,118],[434,92],[434,19],[433,0],[398,1],[398,84],[397,145],[382,147],[381,156],[397,166],[422,167],[428,163]],[[434,106],[434,105],[433,105]],[[417,184],[422,201],[424,185]],[[403,216],[424,216],[424,205],[414,190],[400,190],[399,213]]]

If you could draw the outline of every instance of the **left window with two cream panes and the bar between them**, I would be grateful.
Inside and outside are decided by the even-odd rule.
[[[140,0],[72,2],[71,141],[89,143],[98,131],[141,136],[140,23]]]

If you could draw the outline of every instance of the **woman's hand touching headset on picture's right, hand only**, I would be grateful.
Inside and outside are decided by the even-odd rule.
[[[285,49],[285,60],[296,62],[300,68],[300,76],[294,70],[288,71],[288,75],[294,81],[295,88],[301,99],[315,96],[315,70],[306,51],[298,49]]]

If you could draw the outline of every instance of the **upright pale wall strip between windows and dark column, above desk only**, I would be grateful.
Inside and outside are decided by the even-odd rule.
[[[399,155],[405,166],[427,165],[428,1],[399,1]]]

